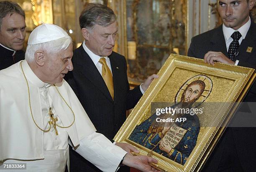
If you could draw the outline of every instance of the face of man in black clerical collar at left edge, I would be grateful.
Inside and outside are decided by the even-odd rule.
[[[13,50],[21,50],[25,40],[26,23],[22,15],[13,13],[3,17],[0,26],[0,43]]]

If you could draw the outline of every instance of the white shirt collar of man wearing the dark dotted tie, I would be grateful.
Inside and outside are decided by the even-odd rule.
[[[246,22],[243,26],[241,26],[238,30],[234,30],[231,27],[226,27],[224,24],[222,25],[222,29],[223,29],[223,34],[225,36],[226,40],[229,40],[229,38],[231,37],[231,35],[233,34],[233,32],[235,31],[239,31],[243,37],[243,39],[246,37],[246,34],[250,28],[251,25],[251,18],[249,17],[248,22]]]

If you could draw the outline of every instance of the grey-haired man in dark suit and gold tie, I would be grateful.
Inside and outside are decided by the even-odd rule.
[[[97,131],[112,140],[126,119],[126,110],[136,105],[157,75],[151,75],[142,85],[130,90],[125,57],[113,52],[118,32],[113,10],[90,3],[82,11],[79,22],[84,42],[74,50],[74,70],[65,79]],[[127,152],[138,151],[128,144],[114,144]],[[70,152],[70,165],[71,171],[100,171],[74,151]]]

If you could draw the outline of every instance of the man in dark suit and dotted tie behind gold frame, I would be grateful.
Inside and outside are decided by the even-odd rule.
[[[188,56],[203,58],[212,65],[216,61],[256,68],[256,24],[249,15],[254,3],[254,0],[218,0],[223,25],[193,37]],[[244,101],[256,102],[255,83]],[[233,120],[237,117],[236,114]],[[255,128],[228,127],[202,171],[254,172],[255,142]]]

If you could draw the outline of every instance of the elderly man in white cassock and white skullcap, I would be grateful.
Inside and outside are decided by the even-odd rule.
[[[73,70],[72,55],[67,32],[43,24],[31,32],[25,60],[0,71],[0,169],[26,163],[26,172],[64,172],[70,144],[104,172],[115,172],[121,164],[156,171],[148,165],[155,159],[133,157],[95,132],[63,80]]]

